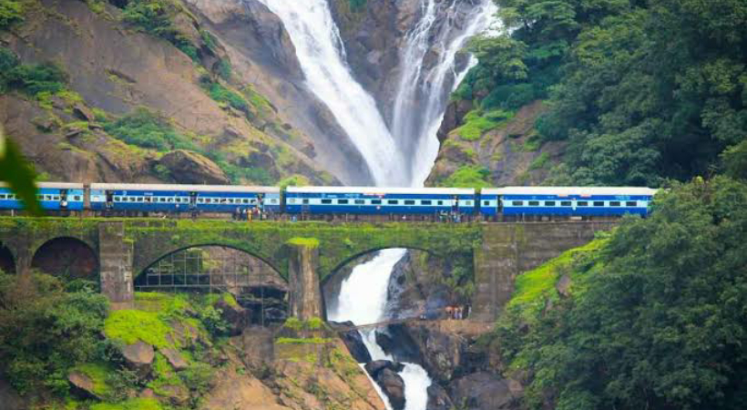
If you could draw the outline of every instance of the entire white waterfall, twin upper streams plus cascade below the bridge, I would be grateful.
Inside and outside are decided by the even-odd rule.
[[[492,0],[481,0],[470,11],[464,28],[454,23],[437,33],[435,45],[440,53],[435,66],[424,69],[429,49],[435,45],[435,23],[439,15],[436,0],[422,0],[423,15],[407,36],[402,56],[404,71],[395,98],[394,135],[408,144],[414,139],[415,149],[408,156],[397,146],[376,103],[363,87],[355,81],[347,66],[343,41],[334,24],[327,0],[259,0],[281,18],[291,36],[296,56],[301,63],[307,86],[333,112],[334,117],[363,155],[366,164],[379,186],[423,186],[438,151],[436,132],[445,111],[447,96],[464,78],[471,62],[455,70],[457,52],[466,40],[488,26],[496,8]],[[451,0],[448,12],[455,12],[460,0]],[[414,107],[415,103],[424,103]],[[416,155],[414,155],[416,154]],[[404,166],[409,158],[410,166]],[[387,286],[394,265],[402,259],[405,250],[380,251],[372,261],[356,266],[340,289],[336,309],[328,312],[335,322],[352,321],[356,324],[376,323],[384,320]],[[363,343],[373,360],[392,360],[375,341],[374,331],[361,333]],[[425,410],[427,388],[432,383],[419,364],[404,364],[400,372],[404,380],[405,410]],[[391,405],[381,389],[374,384],[387,409]]]

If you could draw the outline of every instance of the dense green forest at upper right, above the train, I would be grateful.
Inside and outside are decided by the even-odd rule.
[[[510,29],[473,44],[455,97],[484,110],[547,98],[564,182],[660,185],[708,173],[747,136],[740,0],[495,0]]]

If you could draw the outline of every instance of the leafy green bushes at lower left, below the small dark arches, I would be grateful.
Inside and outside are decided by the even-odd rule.
[[[0,371],[21,393],[67,394],[67,372],[107,354],[100,339],[107,299],[93,287],[66,292],[59,279],[0,272]]]

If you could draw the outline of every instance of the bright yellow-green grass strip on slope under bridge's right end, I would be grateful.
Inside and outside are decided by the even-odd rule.
[[[557,296],[555,285],[561,273],[570,270],[578,253],[596,251],[605,243],[607,243],[605,239],[590,241],[584,246],[561,253],[557,258],[531,271],[520,274],[515,282],[516,290],[507,307],[523,307],[525,312],[541,309],[547,297]]]

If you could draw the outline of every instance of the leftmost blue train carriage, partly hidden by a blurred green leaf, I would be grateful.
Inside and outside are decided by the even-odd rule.
[[[85,192],[83,184],[67,182],[39,182],[36,199],[43,210],[83,210]],[[0,210],[22,210],[20,198],[4,183],[0,183]]]

